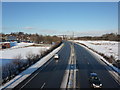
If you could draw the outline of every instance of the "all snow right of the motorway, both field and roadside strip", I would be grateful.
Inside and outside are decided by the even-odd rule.
[[[89,48],[92,48],[93,50],[103,53],[106,56],[111,56],[115,58],[115,60],[120,60],[119,58],[119,53],[118,53],[118,44],[120,42],[116,41],[82,41],[82,40],[74,40],[74,42],[82,43],[88,46]],[[86,48],[85,46],[83,46]],[[99,57],[105,64],[111,67],[115,72],[120,74],[120,69],[116,68],[113,66],[111,63],[109,63],[106,59],[104,59],[102,56],[99,54],[93,52],[92,50],[86,48],[89,50],[91,53],[93,53],[95,56]],[[112,72],[113,73],[113,72]]]

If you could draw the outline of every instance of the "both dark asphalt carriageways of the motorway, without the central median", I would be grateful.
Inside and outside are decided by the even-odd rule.
[[[120,88],[114,77],[106,69],[106,64],[78,44],[74,44],[76,56],[76,85],[77,88],[90,88],[89,74],[96,72],[101,79],[103,88]],[[60,88],[70,57],[70,42],[58,52],[60,59],[56,62],[51,58],[40,69],[20,83],[16,88]]]

